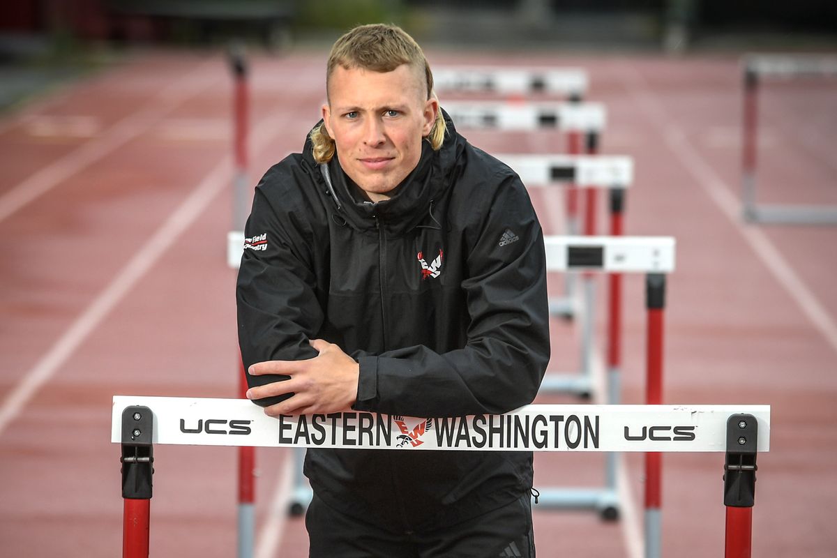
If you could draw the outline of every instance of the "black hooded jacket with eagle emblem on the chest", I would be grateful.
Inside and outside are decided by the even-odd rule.
[[[322,338],[360,363],[357,410],[456,417],[532,401],[549,360],[542,230],[520,178],[448,125],[442,148],[424,141],[419,165],[377,204],[336,157],[321,170],[310,141],[267,171],[239,270],[245,369],[316,356],[308,340]],[[531,461],[310,449],[305,472],[327,504],[403,532],[519,498]]]

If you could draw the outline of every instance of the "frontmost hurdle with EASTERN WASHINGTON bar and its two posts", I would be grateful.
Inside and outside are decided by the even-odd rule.
[[[401,424],[410,429],[428,420],[433,423],[429,431],[401,434]],[[746,434],[739,426],[742,421],[750,428]],[[754,427],[757,437],[750,433]],[[725,491],[737,492],[740,476],[752,476],[753,471],[741,456],[769,451],[769,438],[770,407],[766,405],[528,405],[501,415],[469,417],[426,419],[341,412],[273,418],[246,399],[143,396],[113,397],[110,434],[110,441],[122,448],[123,558],[147,558],[151,546],[148,514],[154,444],[394,451],[724,452],[730,483]],[[736,452],[729,451],[728,440],[733,440]],[[754,458],[748,459],[754,463]],[[157,469],[162,470],[160,463]],[[133,524],[129,509],[140,509],[144,521]],[[727,522],[728,548],[749,540],[750,533],[738,532],[744,529],[752,530],[752,523]],[[728,554],[727,558],[747,556]]]

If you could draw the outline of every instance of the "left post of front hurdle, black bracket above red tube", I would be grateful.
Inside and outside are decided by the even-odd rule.
[[[148,407],[122,412],[122,558],[148,558],[154,415]]]

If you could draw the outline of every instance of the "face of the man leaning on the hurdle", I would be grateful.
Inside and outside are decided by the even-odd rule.
[[[392,72],[338,65],[322,118],[343,170],[379,202],[419,164],[438,107],[427,99],[424,72],[408,64]]]

